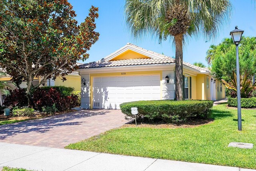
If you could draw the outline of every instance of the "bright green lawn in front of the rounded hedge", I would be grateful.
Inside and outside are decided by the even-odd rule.
[[[242,109],[242,131],[236,109],[214,106],[212,118],[194,128],[112,129],[65,148],[256,169],[256,110]],[[254,143],[254,148],[228,147],[232,141]]]

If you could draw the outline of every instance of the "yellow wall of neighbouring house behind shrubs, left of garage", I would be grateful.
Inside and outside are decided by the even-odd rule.
[[[76,76],[68,75],[65,77],[67,80],[64,82],[60,78],[56,78],[55,85],[74,87],[75,91],[81,91],[81,78],[79,75],[76,75]]]

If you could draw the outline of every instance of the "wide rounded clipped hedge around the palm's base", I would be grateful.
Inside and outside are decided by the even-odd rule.
[[[213,101],[209,100],[154,100],[120,104],[122,113],[131,117],[131,107],[138,108],[138,119],[162,119],[166,122],[184,121],[188,117],[209,117]]]

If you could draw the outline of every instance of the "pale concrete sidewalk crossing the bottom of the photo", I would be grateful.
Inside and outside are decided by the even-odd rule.
[[[252,171],[238,167],[0,143],[0,168],[3,166],[38,171]]]

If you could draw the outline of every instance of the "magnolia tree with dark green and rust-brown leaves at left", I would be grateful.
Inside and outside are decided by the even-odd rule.
[[[0,66],[16,84],[27,82],[28,99],[46,79],[65,80],[98,40],[98,8],[92,6],[81,24],[72,8],[68,0],[0,2]],[[33,85],[39,77],[40,83]]]

